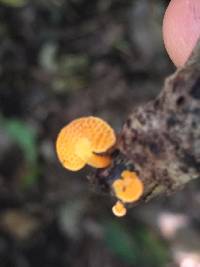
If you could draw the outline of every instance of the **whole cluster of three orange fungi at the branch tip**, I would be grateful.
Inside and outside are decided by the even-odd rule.
[[[78,171],[86,164],[95,168],[105,168],[111,164],[111,157],[102,155],[116,143],[114,130],[102,119],[83,117],[73,120],[61,129],[56,151],[62,165],[71,171]],[[118,198],[112,208],[116,216],[124,216],[124,203],[139,199],[143,184],[134,172],[124,171],[122,177],[113,183],[113,191]]]

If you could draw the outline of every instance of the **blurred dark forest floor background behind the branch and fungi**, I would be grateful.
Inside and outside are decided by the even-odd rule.
[[[0,266],[198,267],[195,182],[113,216],[113,200],[55,155],[60,128],[96,115],[117,132],[174,71],[166,0],[0,0]]]

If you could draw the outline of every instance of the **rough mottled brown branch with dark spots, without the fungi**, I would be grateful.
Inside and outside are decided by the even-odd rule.
[[[145,185],[143,200],[200,177],[200,40],[185,66],[166,79],[157,99],[130,114],[113,159],[92,181],[112,192],[121,171],[134,170]]]

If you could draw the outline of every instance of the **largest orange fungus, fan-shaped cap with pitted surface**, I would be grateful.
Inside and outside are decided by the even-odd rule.
[[[83,117],[65,126],[56,141],[56,151],[62,165],[78,171],[86,164],[105,168],[111,158],[99,155],[106,152],[116,142],[113,129],[102,119]]]

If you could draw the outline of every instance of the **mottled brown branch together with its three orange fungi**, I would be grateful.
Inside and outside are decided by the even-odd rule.
[[[200,40],[185,66],[166,80],[160,95],[130,114],[112,160],[99,155],[115,142],[109,125],[86,117],[64,127],[56,147],[61,163],[70,170],[86,164],[104,168],[89,180],[103,192],[114,192],[116,216],[126,214],[126,203],[131,206],[139,199],[172,193],[200,177]]]

